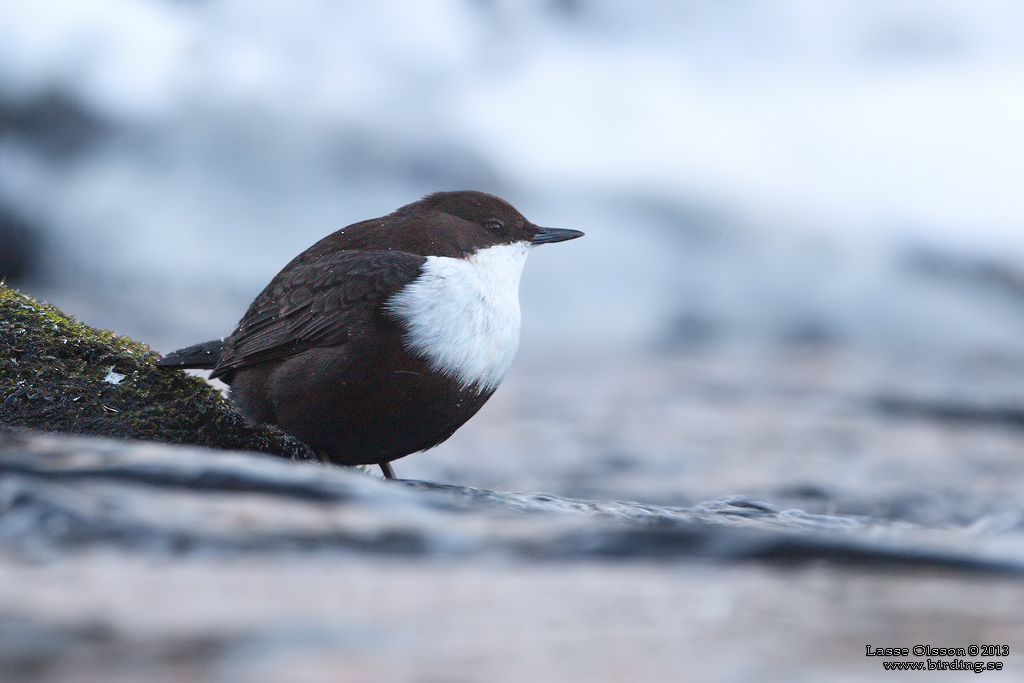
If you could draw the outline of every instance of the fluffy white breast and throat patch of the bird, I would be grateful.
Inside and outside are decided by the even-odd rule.
[[[469,258],[428,256],[423,273],[387,303],[409,328],[406,347],[464,388],[495,389],[519,347],[519,278],[528,253],[518,242]]]

